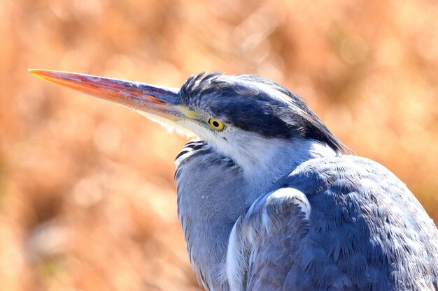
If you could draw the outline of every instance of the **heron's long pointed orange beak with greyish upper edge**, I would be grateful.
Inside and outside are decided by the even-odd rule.
[[[29,69],[29,73],[43,80],[172,121],[184,117],[178,88],[57,70]]]

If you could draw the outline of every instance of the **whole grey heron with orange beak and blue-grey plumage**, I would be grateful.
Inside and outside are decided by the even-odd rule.
[[[286,87],[224,73],[177,88],[30,73],[194,136],[176,156],[175,181],[206,290],[438,290],[438,230],[416,197]]]

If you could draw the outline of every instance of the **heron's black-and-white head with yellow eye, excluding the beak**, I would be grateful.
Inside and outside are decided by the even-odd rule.
[[[179,95],[192,118],[178,122],[213,143],[312,139],[344,151],[302,98],[262,77],[202,73],[190,77]]]

